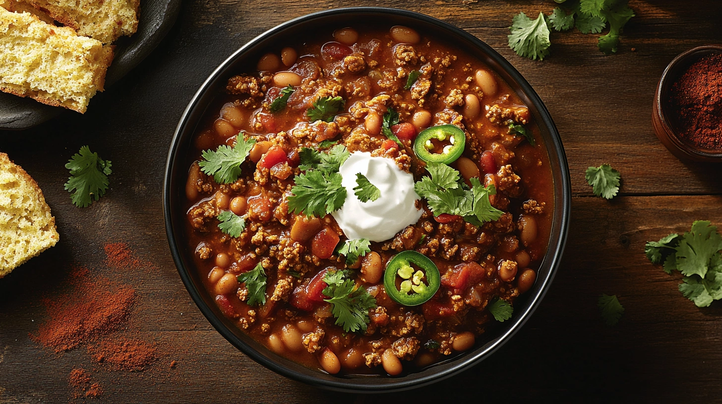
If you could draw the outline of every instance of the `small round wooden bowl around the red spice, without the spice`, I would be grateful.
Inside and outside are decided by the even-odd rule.
[[[689,69],[692,63],[711,53],[722,53],[722,45],[697,46],[697,48],[680,53],[664,69],[657,84],[657,92],[652,104],[652,125],[659,141],[679,159],[722,162],[722,150],[699,148],[687,143],[679,136],[679,130],[674,124],[674,120],[671,120],[672,111],[671,105],[669,105],[672,84]]]

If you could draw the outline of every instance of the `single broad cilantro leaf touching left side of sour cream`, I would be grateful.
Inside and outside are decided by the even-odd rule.
[[[288,197],[288,209],[296,214],[323,217],[332,214],[346,201],[346,188],[338,172],[309,170],[295,177],[296,185]]]

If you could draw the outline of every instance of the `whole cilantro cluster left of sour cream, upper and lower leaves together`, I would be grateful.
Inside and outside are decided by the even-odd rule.
[[[341,208],[346,201],[346,188],[341,184],[339,167],[351,154],[346,146],[337,144],[328,153],[308,147],[299,152],[301,170],[295,177],[293,194],[288,198],[288,208],[297,214],[323,217]]]

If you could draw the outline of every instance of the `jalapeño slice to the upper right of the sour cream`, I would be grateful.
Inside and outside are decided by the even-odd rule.
[[[416,137],[414,152],[425,162],[451,164],[464,152],[466,135],[453,125],[427,128]]]

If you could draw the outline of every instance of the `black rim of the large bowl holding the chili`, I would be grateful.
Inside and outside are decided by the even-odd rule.
[[[315,375],[315,373],[319,372],[316,369],[310,369],[308,370],[308,374],[304,374],[302,372],[297,372],[294,369],[287,368],[286,366],[282,366],[282,364],[277,363],[277,361],[271,360],[268,357],[260,354],[258,351],[256,351],[255,348],[248,346],[244,341],[241,341],[238,337],[233,335],[233,333],[219,320],[217,315],[212,311],[212,309],[209,307],[208,304],[204,301],[204,299],[201,297],[199,290],[196,288],[195,284],[193,284],[193,280],[190,277],[190,274],[188,273],[188,268],[185,267],[183,264],[183,260],[181,259],[181,253],[178,250],[178,240],[175,239],[175,230],[173,227],[173,217],[170,216],[170,206],[171,201],[173,198],[173,193],[171,193],[170,190],[170,181],[171,177],[173,176],[173,163],[176,159],[176,154],[179,147],[179,138],[183,132],[183,129],[186,126],[186,121],[188,120],[188,115],[193,110],[193,107],[196,105],[196,102],[199,101],[202,95],[204,95],[204,92],[206,92],[207,89],[209,89],[209,86],[212,84],[212,82],[215,82],[215,80],[218,79],[219,74],[225,68],[227,65],[235,61],[236,58],[240,57],[245,53],[246,51],[251,51],[253,47],[260,43],[263,40],[267,40],[269,38],[272,38],[277,33],[282,33],[284,30],[287,30],[288,28],[298,25],[303,22],[308,22],[313,19],[318,19],[321,17],[330,17],[340,14],[383,14],[388,17],[404,17],[407,19],[416,19],[420,22],[435,25],[440,30],[445,30],[449,32],[451,35],[456,35],[458,37],[464,38],[465,40],[469,41],[472,45],[474,45],[476,48],[478,48],[479,51],[482,51],[483,53],[486,53],[486,55],[495,61],[495,63],[498,63],[502,69],[505,71],[506,74],[511,76],[511,78],[518,84],[519,87],[521,87],[521,93],[526,95],[526,97],[529,97],[531,100],[531,103],[536,107],[536,110],[539,113],[539,117],[541,120],[538,122],[538,125],[540,127],[547,128],[549,131],[549,138],[552,141],[552,147],[549,148],[547,146],[547,151],[549,152],[549,159],[554,160],[556,159],[559,168],[560,168],[560,177],[554,177],[554,182],[557,181],[560,183],[560,189],[561,189],[561,195],[558,199],[555,199],[555,203],[560,205],[560,234],[558,236],[558,240],[556,242],[556,245],[551,245],[552,240],[554,240],[554,234],[552,234],[552,239],[549,240],[550,245],[547,247],[547,255],[545,256],[544,260],[549,259],[549,275],[544,278],[543,283],[539,285],[539,290],[534,294],[534,296],[529,296],[529,307],[521,313],[520,316],[513,319],[512,325],[507,330],[504,330],[500,333],[499,336],[497,336],[496,341],[494,341],[490,346],[487,346],[483,350],[476,352],[474,354],[469,353],[465,356],[460,356],[454,359],[451,359],[451,361],[456,361],[452,366],[449,366],[446,369],[441,370],[440,372],[435,372],[432,374],[427,374],[422,377],[414,377],[409,379],[399,379],[399,382],[388,382],[383,384],[375,384],[375,385],[368,385],[368,384],[359,384],[355,383],[352,379],[342,379],[339,378],[337,380],[334,379],[322,379]],[[518,91],[519,92],[519,91]],[[547,142],[548,143],[548,142]],[[555,153],[555,155],[554,155]],[[557,185],[554,185],[556,188]],[[475,37],[474,35],[471,35],[469,32],[466,32],[465,30],[462,30],[461,28],[458,28],[454,25],[451,25],[448,22],[444,22],[440,19],[437,19],[435,17],[430,17],[426,14],[421,14],[419,12],[412,12],[405,9],[395,9],[395,8],[387,8],[387,7],[377,7],[377,6],[353,6],[353,7],[343,7],[343,8],[337,8],[337,9],[326,9],[319,12],[313,12],[310,14],[305,14],[303,16],[290,19],[287,22],[284,22],[280,25],[277,25],[276,27],[271,28],[270,30],[267,30],[266,32],[262,33],[261,35],[256,36],[256,38],[253,38],[252,40],[248,41],[248,43],[245,43],[243,46],[238,48],[237,51],[234,51],[228,58],[225,59],[222,63],[219,64],[219,66],[214,69],[214,71],[208,76],[208,78],[201,84],[201,87],[199,87],[198,91],[193,95],[191,100],[188,102],[188,106],[185,110],[183,110],[183,114],[181,115],[180,120],[178,121],[178,126],[175,128],[175,133],[173,133],[173,139],[171,140],[170,149],[168,151],[168,159],[166,161],[166,167],[165,167],[165,176],[163,180],[163,216],[165,219],[165,229],[166,229],[166,235],[168,237],[168,245],[170,247],[170,253],[173,255],[173,261],[175,263],[176,268],[178,269],[178,273],[181,276],[181,279],[183,281],[184,286],[186,286],[186,290],[188,290],[188,294],[191,295],[191,298],[193,299],[193,302],[196,304],[196,306],[199,307],[201,310],[201,313],[206,317],[209,322],[211,322],[211,325],[217,330],[219,334],[221,334],[227,341],[229,341],[233,346],[238,348],[240,351],[243,352],[243,354],[251,357],[254,361],[258,362],[259,364],[262,364],[263,366],[266,366],[266,368],[271,369],[272,371],[281,374],[284,377],[289,377],[290,379],[294,379],[300,382],[304,382],[308,385],[313,385],[316,387],[322,387],[326,390],[334,390],[339,392],[355,392],[355,393],[373,393],[373,392],[397,392],[402,390],[410,390],[412,388],[422,387],[425,385],[430,385],[435,382],[439,382],[443,379],[447,379],[448,377],[452,377],[455,374],[458,374],[466,369],[469,369],[469,367],[474,366],[475,364],[479,364],[480,361],[487,358],[491,354],[493,354],[495,351],[497,351],[498,348],[503,346],[504,343],[506,343],[516,332],[521,328],[521,326],[526,322],[526,320],[531,317],[531,315],[534,313],[536,308],[539,306],[539,303],[541,302],[541,299],[547,294],[547,291],[549,290],[549,286],[557,273],[557,269],[560,265],[560,260],[562,258],[562,254],[564,252],[566,240],[567,240],[567,234],[569,229],[569,223],[570,223],[570,209],[571,209],[571,184],[570,184],[570,175],[569,175],[569,167],[567,164],[566,154],[564,147],[562,146],[561,137],[559,134],[559,131],[557,130],[557,127],[554,125],[554,121],[552,120],[551,115],[549,114],[549,110],[547,110],[546,105],[544,105],[544,102],[541,101],[541,98],[539,95],[536,94],[536,91],[531,88],[531,84],[526,81],[526,79],[523,78],[523,76],[511,65],[509,61],[507,61],[503,56],[500,55],[497,51],[495,51],[490,45],[487,45],[487,43],[484,43],[479,38]],[[552,229],[556,227],[556,224],[554,224],[554,221],[556,221],[557,218],[554,217],[552,221]],[[537,280],[539,281],[539,280]]]

